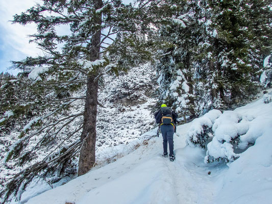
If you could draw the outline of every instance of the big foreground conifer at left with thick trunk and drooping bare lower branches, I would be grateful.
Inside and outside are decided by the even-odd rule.
[[[27,12],[14,16],[14,23],[37,24],[38,33],[31,35],[31,41],[38,44],[44,56],[14,62],[14,67],[28,77],[24,78],[28,80],[24,86],[31,87],[33,94],[41,97],[26,101],[26,104],[35,106],[39,114],[28,121],[20,139],[9,148],[6,162],[15,161],[16,165],[22,166],[22,171],[15,174],[1,191],[4,201],[11,194],[18,194],[19,197],[38,174],[45,176],[55,171],[61,174],[78,152],[78,175],[86,173],[94,165],[98,82],[106,72],[118,73],[118,70],[151,56],[147,51],[150,43],[146,43],[143,35],[148,27],[141,27],[142,16],[140,9],[115,0],[43,0],[43,5],[37,4]],[[65,35],[59,35],[58,27],[63,25],[68,25],[70,30]],[[86,92],[73,97],[72,93],[81,88]],[[40,90],[43,90],[42,94]],[[83,112],[57,120],[51,118],[64,113],[77,100],[85,101]],[[64,127],[79,117],[83,118],[75,131],[64,134],[54,151],[31,163],[31,160],[37,159],[39,149],[54,144],[54,139]],[[80,139],[63,145],[81,131]],[[37,145],[21,155],[33,139],[38,140]]]

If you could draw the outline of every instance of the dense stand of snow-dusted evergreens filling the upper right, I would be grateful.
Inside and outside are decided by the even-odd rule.
[[[174,29],[169,21],[159,27],[160,36],[171,45],[161,49],[157,66],[161,99],[192,116],[250,99],[258,87],[262,62],[271,53],[269,3],[179,3],[166,13],[180,27]]]

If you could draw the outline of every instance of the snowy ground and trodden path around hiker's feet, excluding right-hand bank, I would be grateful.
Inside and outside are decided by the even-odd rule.
[[[148,145],[116,162],[46,191],[27,203],[211,203],[218,171],[208,175],[210,170],[203,162],[205,152],[186,146],[189,126],[187,123],[177,129],[180,137],[174,137],[174,162],[161,156],[162,137],[155,137]]]

